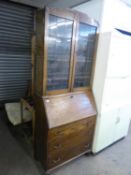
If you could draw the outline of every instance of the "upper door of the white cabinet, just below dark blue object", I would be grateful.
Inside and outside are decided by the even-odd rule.
[[[107,77],[131,76],[131,37],[112,35]]]

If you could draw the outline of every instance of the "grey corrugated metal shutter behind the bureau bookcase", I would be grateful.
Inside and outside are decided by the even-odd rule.
[[[31,79],[33,11],[0,1],[0,101],[24,96]]]

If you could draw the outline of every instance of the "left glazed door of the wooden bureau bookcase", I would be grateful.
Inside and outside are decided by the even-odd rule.
[[[73,16],[58,12],[48,14],[46,94],[70,89],[74,23]]]

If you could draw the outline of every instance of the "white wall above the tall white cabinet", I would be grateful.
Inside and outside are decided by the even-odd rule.
[[[114,28],[131,31],[131,7],[122,0],[92,0],[73,9],[96,19],[100,32],[111,32]]]

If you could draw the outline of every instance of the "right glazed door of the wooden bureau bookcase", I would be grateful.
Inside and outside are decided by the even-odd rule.
[[[90,88],[95,38],[96,27],[84,22],[84,20],[79,21],[75,51],[74,90]]]

